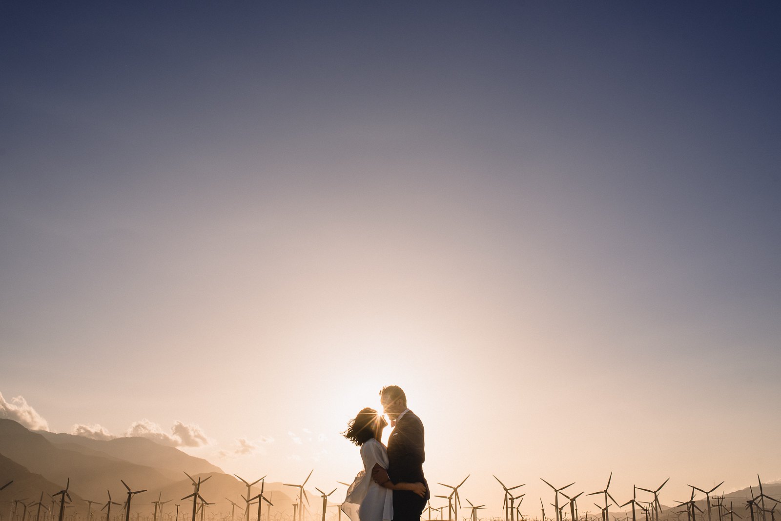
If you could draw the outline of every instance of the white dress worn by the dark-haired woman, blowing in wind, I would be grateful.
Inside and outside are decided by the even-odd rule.
[[[393,491],[381,487],[372,479],[375,463],[388,468],[385,445],[372,438],[361,445],[363,470],[355,477],[341,505],[342,512],[352,521],[391,521],[393,519]]]

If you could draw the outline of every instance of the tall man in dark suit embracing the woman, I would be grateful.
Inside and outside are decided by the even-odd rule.
[[[407,408],[407,396],[398,385],[388,385],[380,391],[380,403],[383,411],[391,418],[394,427],[388,438],[388,469],[375,467],[372,477],[378,483],[390,479],[394,484],[423,483],[426,485],[425,497],[412,491],[394,491],[393,521],[420,521],[420,515],[431,498],[426,477],[423,476],[423,462],[426,454],[423,450],[423,422]]]

